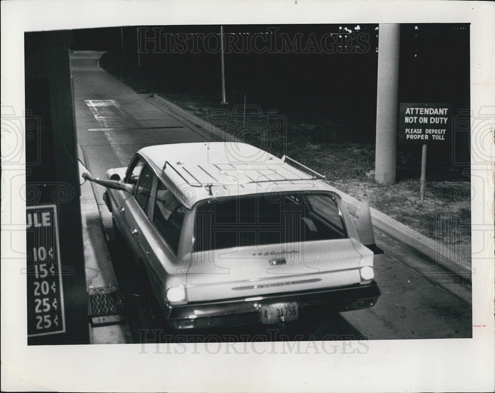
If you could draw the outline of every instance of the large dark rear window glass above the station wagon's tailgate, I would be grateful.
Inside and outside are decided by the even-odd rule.
[[[347,237],[334,198],[325,194],[258,194],[199,203],[194,251]]]

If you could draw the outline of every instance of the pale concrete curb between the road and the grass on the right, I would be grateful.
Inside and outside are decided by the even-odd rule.
[[[181,107],[171,103],[170,101],[167,101],[157,94],[153,94],[152,98],[157,100],[164,107],[168,108],[171,112],[174,112],[178,116],[188,119],[190,122],[200,126],[207,132],[215,134],[217,137],[220,138],[220,140],[240,141],[238,138],[235,138],[227,132],[210,125],[208,122],[199,119],[197,116],[186,112]],[[351,197],[350,195],[342,192],[335,187],[332,188],[339,195],[342,196],[342,200],[346,203],[349,209],[349,213],[355,216],[356,211],[361,204],[361,201],[354,197]],[[376,209],[370,208],[370,211],[373,226],[375,228],[394,238],[398,242],[403,243],[406,246],[414,249],[418,253],[432,259],[433,261],[436,261],[439,265],[443,266],[455,275],[467,281],[471,281],[471,266],[463,265],[461,256],[447,249],[441,243],[422,235],[421,233],[409,228],[404,224],[401,224],[394,218],[391,218]]]

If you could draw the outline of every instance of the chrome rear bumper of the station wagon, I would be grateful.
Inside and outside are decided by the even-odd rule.
[[[169,305],[165,317],[174,329],[238,326],[259,323],[259,308],[275,303],[297,302],[299,310],[310,306],[326,306],[332,311],[351,311],[374,306],[379,296],[380,289],[377,283],[372,281],[365,285],[358,284],[312,292]]]

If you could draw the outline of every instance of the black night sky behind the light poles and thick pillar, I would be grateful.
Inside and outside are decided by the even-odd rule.
[[[251,103],[280,108],[308,123],[324,114],[352,132],[356,141],[373,142],[378,25],[360,24],[358,30],[356,26],[224,26],[232,49],[225,54],[227,91],[246,94]],[[148,52],[140,55],[139,71],[152,78],[157,92],[219,91],[219,26],[139,29],[142,49]],[[137,30],[136,26],[75,30],[72,49],[123,54],[123,63],[137,70]],[[332,41],[340,33],[347,38]],[[268,36],[276,38],[263,44]],[[247,42],[251,46],[245,50]],[[469,75],[468,24],[401,25],[399,102],[452,103],[457,113],[470,107]],[[462,138],[468,154],[468,135]]]

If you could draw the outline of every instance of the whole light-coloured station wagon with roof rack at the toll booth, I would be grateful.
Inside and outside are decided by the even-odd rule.
[[[175,329],[287,322],[380,296],[374,253],[340,196],[289,157],[177,143],[145,147],[106,175],[134,185],[104,199]]]

